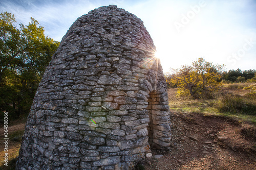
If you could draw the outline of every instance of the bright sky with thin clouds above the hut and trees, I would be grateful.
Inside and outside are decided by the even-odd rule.
[[[256,69],[255,0],[0,0],[0,11],[24,25],[32,17],[61,41],[78,17],[110,4],[144,22],[164,72],[200,57],[226,70]]]

